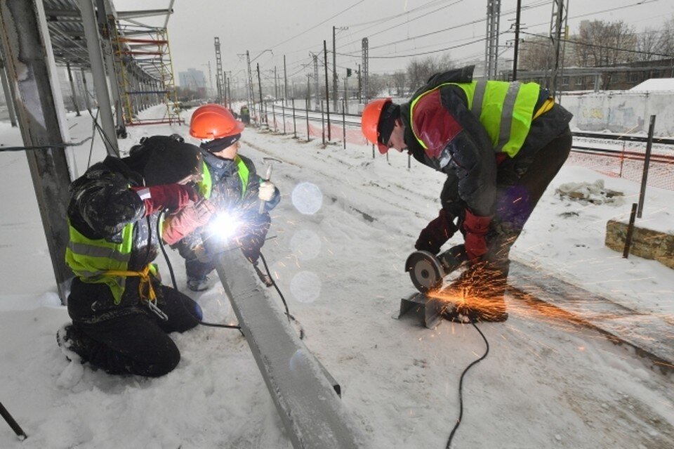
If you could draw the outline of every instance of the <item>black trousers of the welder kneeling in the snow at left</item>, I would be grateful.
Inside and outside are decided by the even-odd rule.
[[[75,280],[68,300],[73,320],[72,349],[85,361],[113,375],[159,377],[171,372],[180,361],[180,351],[169,333],[185,332],[199,324],[201,308],[176,289],[158,283],[154,288],[157,306],[169,317],[166,321],[140,303],[128,308],[126,315],[121,314],[124,311],[108,311],[101,320],[96,320],[95,314],[79,320],[78,308],[85,302],[95,304],[100,295],[105,297],[108,287]]]

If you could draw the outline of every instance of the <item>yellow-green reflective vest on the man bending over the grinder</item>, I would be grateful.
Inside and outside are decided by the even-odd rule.
[[[515,157],[529,134],[534,107],[538,100],[540,86],[536,83],[474,81],[472,83],[444,83],[414,98],[410,107],[410,122],[414,123],[414,107],[426,94],[442,86],[460,87],[468,99],[468,109],[480,120],[491,138],[494,152],[505,152]],[[418,143],[428,149],[412,132]]]

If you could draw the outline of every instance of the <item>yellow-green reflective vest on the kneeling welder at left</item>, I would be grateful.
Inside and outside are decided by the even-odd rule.
[[[133,223],[121,231],[121,242],[90,239],[82,235],[68,221],[70,242],[65,249],[65,262],[82,282],[106,284],[110,287],[114,304],[119,304],[124,294],[126,277],[106,275],[106,271],[126,271],[133,248]]]

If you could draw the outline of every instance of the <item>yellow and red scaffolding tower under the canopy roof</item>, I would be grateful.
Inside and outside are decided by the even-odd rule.
[[[138,35],[141,37],[131,37]],[[120,68],[119,91],[126,126],[185,123],[180,117],[166,28],[121,29],[118,26],[112,42],[115,62]],[[163,117],[138,117],[138,112],[157,103],[166,106]]]

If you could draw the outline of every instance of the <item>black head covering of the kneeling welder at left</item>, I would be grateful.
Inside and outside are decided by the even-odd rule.
[[[177,183],[201,173],[202,169],[199,147],[175,136],[144,138],[131,149],[129,156],[142,167],[145,186]]]

